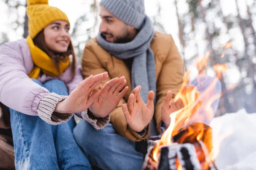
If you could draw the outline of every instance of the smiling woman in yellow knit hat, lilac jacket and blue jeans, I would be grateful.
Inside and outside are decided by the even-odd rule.
[[[0,47],[0,102],[11,113],[15,167],[91,169],[73,138],[73,113],[81,112],[97,129],[105,127],[128,91],[119,93],[126,80],[115,78],[93,91],[108,73],[83,80],[66,14],[48,0],[27,5],[29,36]]]

